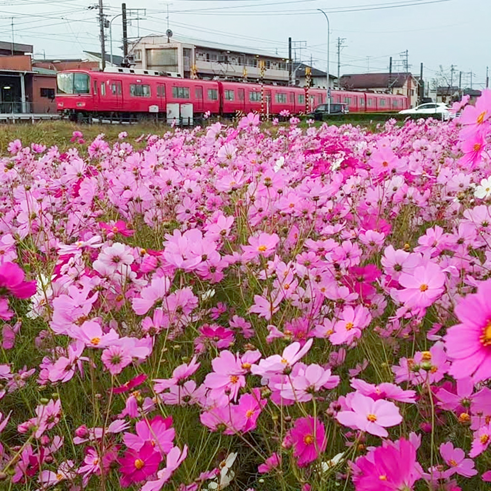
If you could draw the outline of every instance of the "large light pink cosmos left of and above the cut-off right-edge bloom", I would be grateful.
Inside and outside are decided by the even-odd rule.
[[[407,307],[429,307],[443,293],[445,274],[432,262],[417,266],[412,273],[402,273],[399,284],[403,290],[392,290],[391,296]]]

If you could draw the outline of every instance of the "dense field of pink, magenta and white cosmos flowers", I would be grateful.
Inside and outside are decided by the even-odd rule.
[[[0,489],[489,489],[491,92],[454,109],[12,141]]]

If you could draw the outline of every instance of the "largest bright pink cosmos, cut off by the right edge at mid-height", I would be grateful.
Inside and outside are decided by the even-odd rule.
[[[491,280],[482,282],[476,294],[467,295],[455,307],[460,324],[450,327],[444,338],[452,361],[450,375],[473,377],[474,382],[491,377]]]

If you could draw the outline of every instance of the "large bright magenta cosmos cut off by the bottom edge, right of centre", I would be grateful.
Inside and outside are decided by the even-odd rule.
[[[421,477],[416,448],[404,438],[395,443],[377,447],[356,459],[353,464],[356,491],[413,489],[414,483]]]

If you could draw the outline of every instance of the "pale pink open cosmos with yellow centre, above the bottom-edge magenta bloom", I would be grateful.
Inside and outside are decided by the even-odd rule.
[[[393,402],[383,399],[374,401],[371,397],[355,392],[350,404],[350,411],[337,413],[338,422],[371,435],[386,437],[388,433],[385,428],[396,426],[402,421],[399,408]]]

